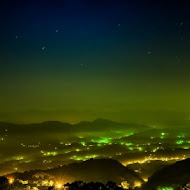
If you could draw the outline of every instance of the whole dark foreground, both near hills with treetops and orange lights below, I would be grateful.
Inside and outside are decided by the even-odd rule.
[[[90,159],[0,177],[0,190],[188,190],[189,187],[190,158],[155,172],[147,183],[112,159]]]

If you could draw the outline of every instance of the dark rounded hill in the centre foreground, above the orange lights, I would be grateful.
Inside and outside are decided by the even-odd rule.
[[[134,182],[143,182],[134,171],[112,159],[91,159],[54,169],[14,173],[11,175],[15,178],[32,180],[32,176],[40,172],[50,174],[55,178],[62,176],[65,183],[74,181],[107,183],[107,181],[114,181],[120,184],[122,181],[128,181],[133,185]]]

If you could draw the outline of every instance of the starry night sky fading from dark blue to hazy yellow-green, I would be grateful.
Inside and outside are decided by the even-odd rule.
[[[0,120],[190,120],[187,1],[0,2]]]

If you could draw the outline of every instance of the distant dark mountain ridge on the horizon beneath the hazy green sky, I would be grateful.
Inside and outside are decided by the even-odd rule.
[[[32,124],[13,124],[0,122],[0,132],[9,128],[12,132],[35,132],[37,130],[46,132],[101,132],[101,131],[120,131],[120,130],[133,130],[133,131],[144,131],[150,129],[146,125],[118,123],[106,119],[96,119],[92,122],[82,121],[77,124],[62,123],[59,121],[45,121],[42,123]]]

